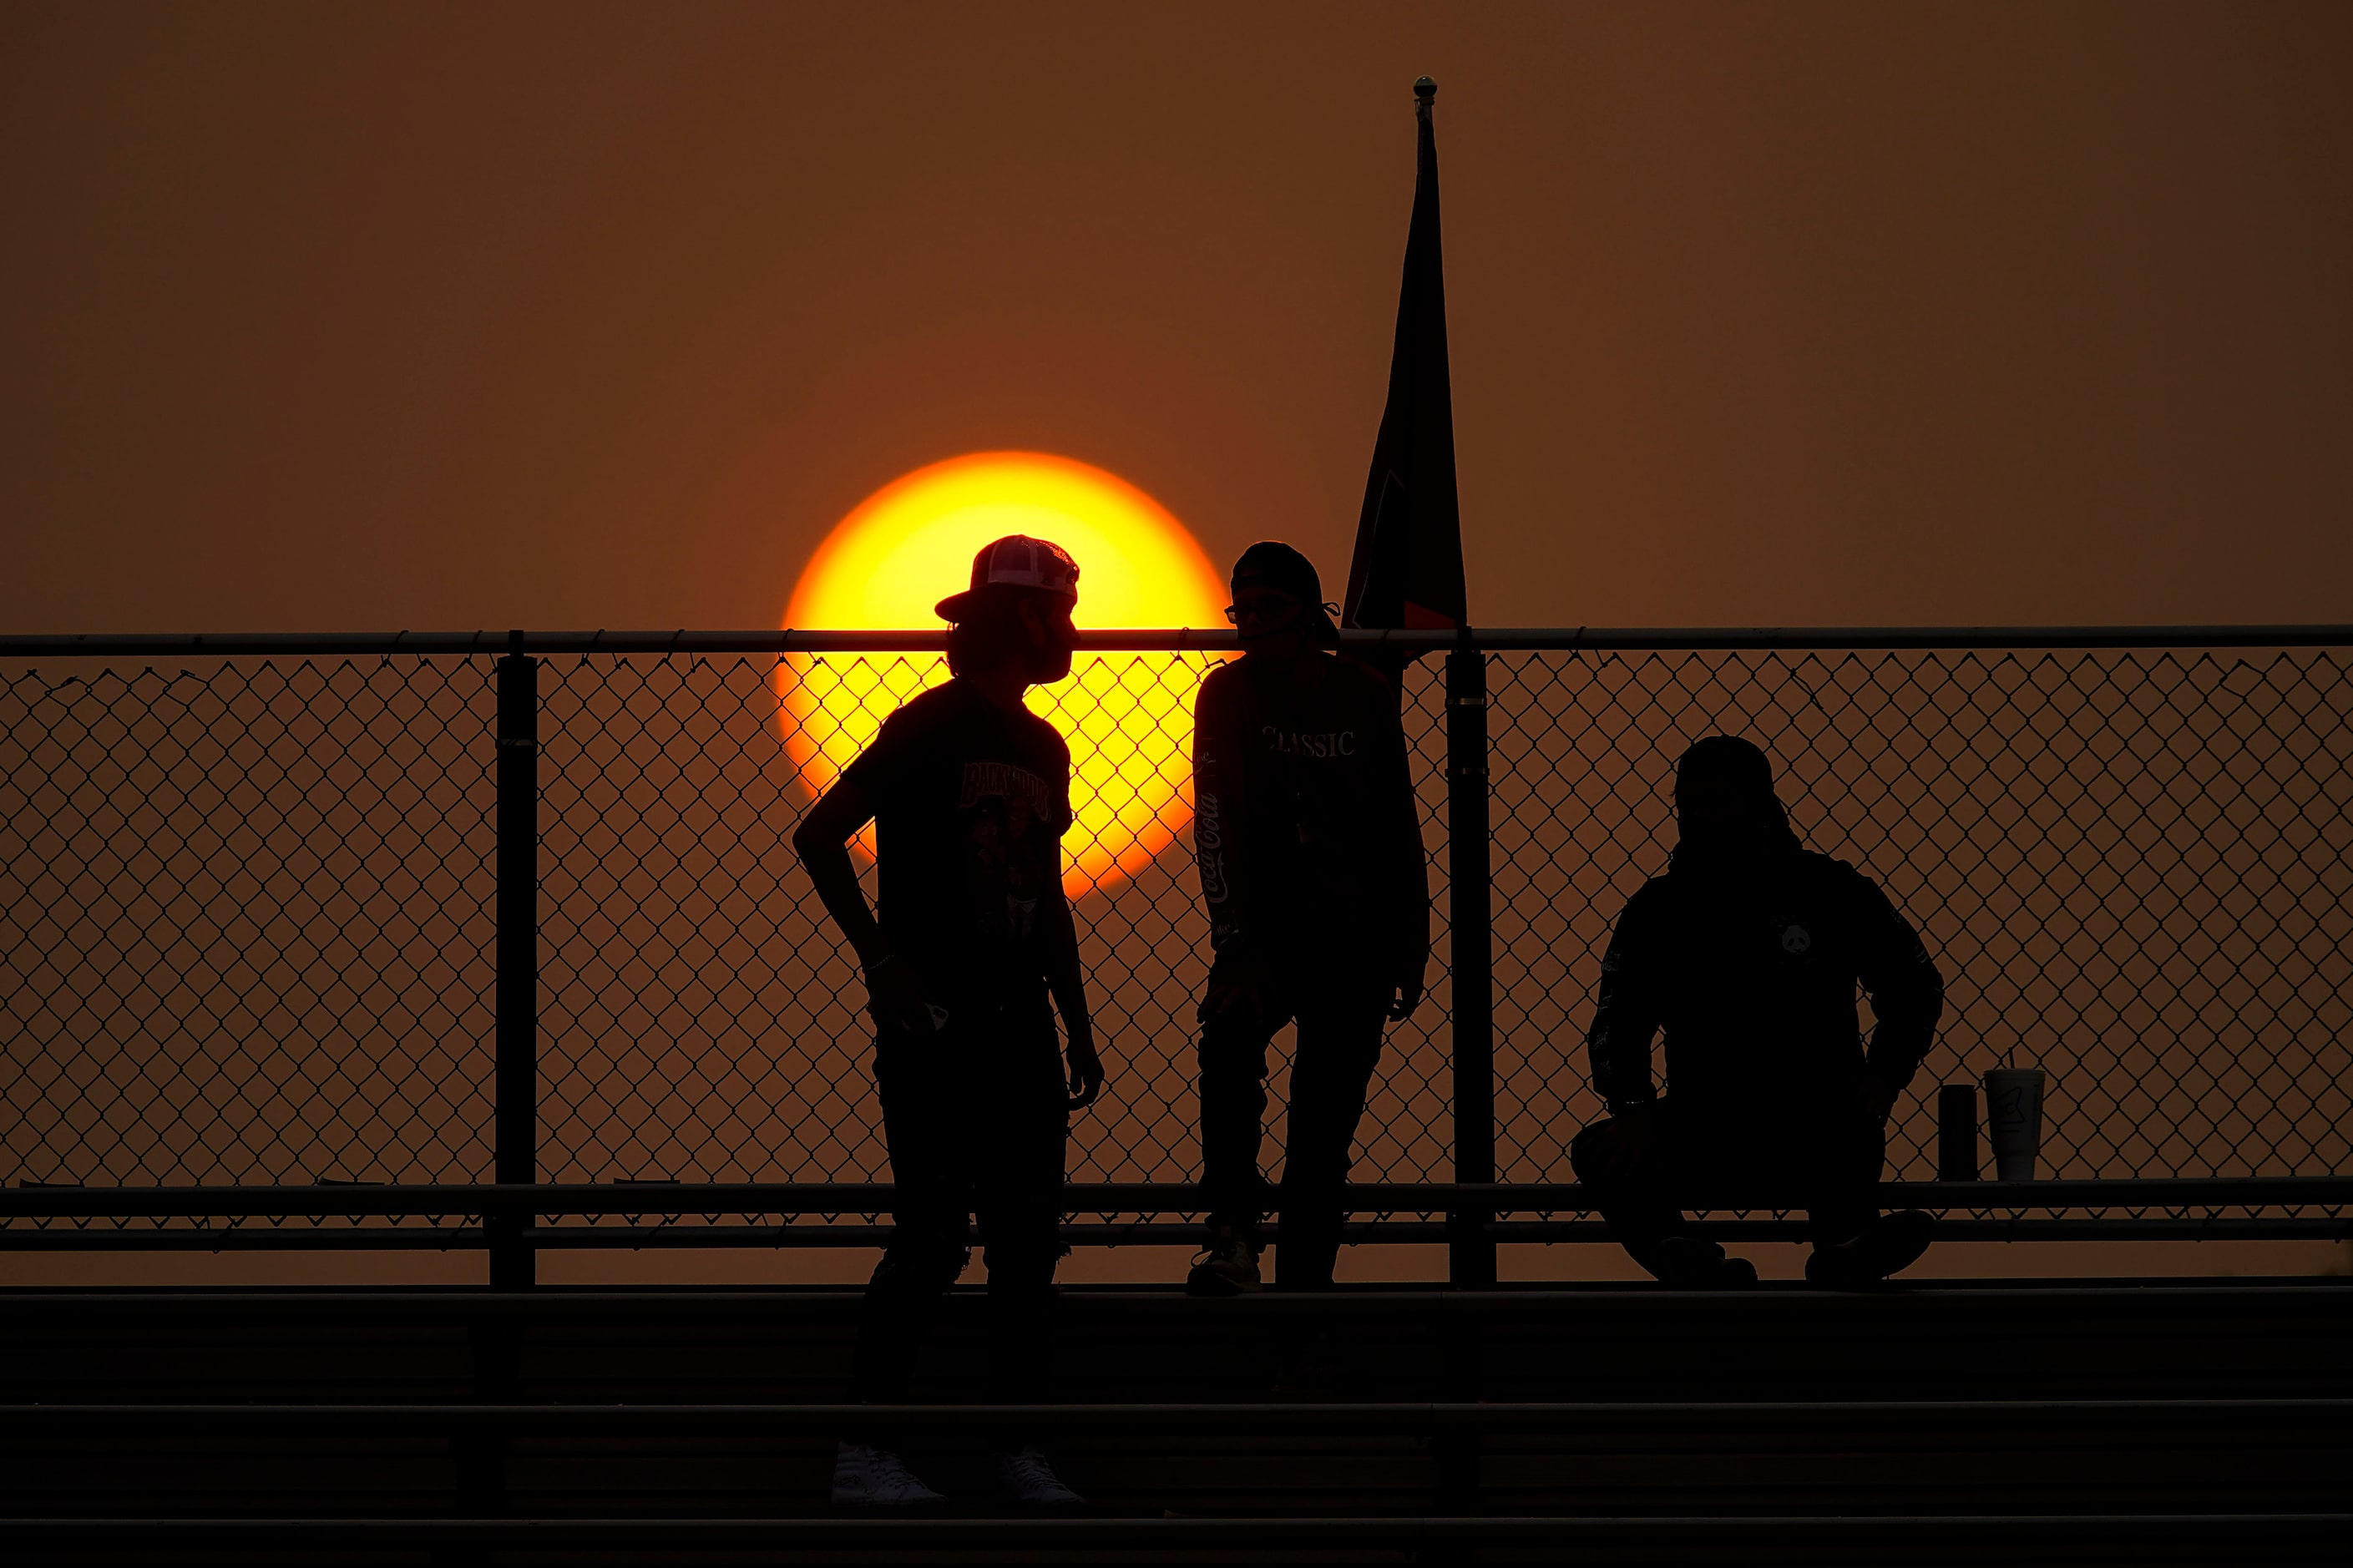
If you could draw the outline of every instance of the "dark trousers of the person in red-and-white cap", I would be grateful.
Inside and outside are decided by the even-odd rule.
[[[1052,1382],[1054,1264],[1068,1114],[1054,1017],[962,1005],[929,1038],[882,1031],[875,1085],[896,1208],[866,1283],[852,1396],[901,1403],[939,1300],[972,1257],[988,1262],[988,1396],[1035,1403]]]

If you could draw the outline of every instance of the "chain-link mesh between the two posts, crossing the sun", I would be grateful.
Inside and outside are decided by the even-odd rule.
[[[1066,885],[1113,1067],[1104,1099],[1073,1121],[1075,1182],[1198,1172],[1191,1029],[1209,932],[1191,873],[1188,730],[1209,666],[1082,657],[1068,685],[1031,695],[1073,742]],[[548,1180],[887,1180],[864,986],[786,841],[882,716],[946,676],[920,655],[541,671]],[[1421,673],[1412,695],[1442,895],[1442,791],[1428,784],[1442,697]],[[1391,1036],[1362,1151],[1384,1180],[1449,1177],[1445,1001],[1440,984]]]

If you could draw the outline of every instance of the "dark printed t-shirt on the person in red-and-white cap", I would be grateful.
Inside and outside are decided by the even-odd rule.
[[[922,692],[842,772],[875,805],[882,937],[934,1001],[1040,996],[1061,897],[1071,749],[967,680]]]

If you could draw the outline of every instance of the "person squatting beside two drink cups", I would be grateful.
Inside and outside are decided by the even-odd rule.
[[[1680,843],[1626,902],[1586,1045],[1609,1104],[1569,1144],[1609,1231],[1671,1285],[1755,1283],[1685,1229],[1682,1208],[1805,1208],[1805,1276],[1861,1285],[1927,1250],[1929,1217],[1887,1215],[1887,1111],[1927,1055],[1944,979],[1911,923],[1842,859],[1798,843],[1772,763],[1715,735],[1675,765]],[[1878,1031],[1864,1055],[1854,989]],[[1666,1029],[1666,1092],[1652,1036]]]

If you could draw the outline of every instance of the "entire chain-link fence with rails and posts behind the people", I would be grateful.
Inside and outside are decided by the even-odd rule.
[[[2005,1057],[2052,1074],[2057,1177],[2353,1170],[2353,631],[1386,636],[1433,655],[1405,720],[1438,963],[1391,1031],[1358,1177],[1393,1196],[1374,1224],[1417,1227],[1391,1234],[1452,1212],[1466,1278],[1511,1229],[1497,1212],[1586,1229],[1560,1191],[1553,1220],[1433,1184],[1567,1180],[1600,1111],[1581,1031],[1609,921],[1673,843],[1675,753],[1718,730],[1774,756],[1805,841],[1875,876],[1946,970],[1892,1177],[1934,1175],[1934,1085]],[[882,1180],[864,994],[786,838],[880,716],[944,678],[939,647],[0,638],[0,1172],[92,1198],[9,1205],[0,1245],[193,1224],[108,1210],[111,1187],[440,1184],[478,1215],[464,1189],[485,1182],[640,1182],[649,1203],[668,1182]],[[1089,1191],[1195,1175],[1186,753],[1228,647],[1092,633],[1073,680],[1033,692],[1080,765],[1071,885],[1113,1064],[1073,1128]],[[1087,1212],[1125,1236],[1144,1217]],[[499,1215],[525,1262],[562,1227],[774,1234],[718,1210]],[[386,1224],[449,1229],[240,1229],[374,1245],[360,1231]]]

